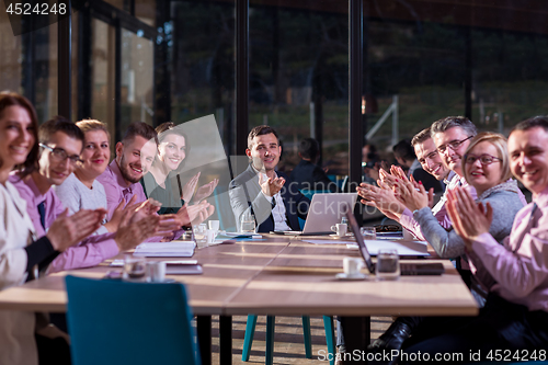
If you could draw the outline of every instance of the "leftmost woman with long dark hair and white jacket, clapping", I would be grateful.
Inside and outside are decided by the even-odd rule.
[[[33,171],[38,160],[38,123],[32,104],[20,94],[0,93],[0,289],[37,276],[44,262],[65,251],[99,227],[95,212],[81,210],[70,217],[65,210],[46,236],[36,239],[26,203],[9,181],[13,170]],[[47,322],[46,322],[47,323]],[[68,344],[39,334],[36,315],[0,311],[0,364],[33,365],[44,360],[42,350],[57,352],[57,364],[69,363]],[[58,332],[61,334],[61,332]],[[55,349],[55,350],[54,350]],[[53,354],[50,352],[50,354]],[[65,356],[64,358],[62,355]]]

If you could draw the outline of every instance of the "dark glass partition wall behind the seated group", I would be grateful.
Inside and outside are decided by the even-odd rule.
[[[356,80],[363,142],[390,162],[395,142],[443,116],[466,115],[480,129],[506,134],[546,114],[541,2],[362,0],[363,23],[354,30],[349,5],[356,1],[85,2],[72,15],[71,117],[104,121],[118,139],[134,121],[181,124],[213,114],[227,156],[244,153],[237,136],[269,124],[282,135],[279,169],[293,169],[298,141],[311,136],[329,173],[347,175],[349,90]],[[241,14],[249,50],[243,85]],[[361,75],[349,71],[351,28],[363,37]],[[13,35],[0,2],[0,89],[26,95],[41,122],[59,110],[58,36],[57,23]],[[239,85],[248,91],[249,122],[237,128]]]

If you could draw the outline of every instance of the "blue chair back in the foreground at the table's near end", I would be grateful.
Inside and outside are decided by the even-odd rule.
[[[182,284],[66,277],[73,365],[199,365]]]

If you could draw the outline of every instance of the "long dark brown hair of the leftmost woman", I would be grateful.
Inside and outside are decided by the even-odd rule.
[[[5,109],[10,106],[21,106],[26,112],[28,112],[28,116],[32,122],[32,133],[34,136],[34,146],[26,156],[25,162],[20,166],[16,166],[16,170],[34,170],[38,166],[38,117],[36,115],[36,111],[34,110],[33,104],[23,95],[18,94],[16,92],[11,91],[2,91],[0,92],[0,118],[3,115]],[[3,164],[3,161],[0,158],[0,167]]]

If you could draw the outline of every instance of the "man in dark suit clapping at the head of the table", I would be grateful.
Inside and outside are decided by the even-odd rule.
[[[258,232],[300,230],[298,218],[306,219],[310,201],[285,173],[274,170],[281,153],[274,128],[251,129],[246,149],[250,164],[230,182],[228,191],[238,229],[242,220],[254,216]]]

